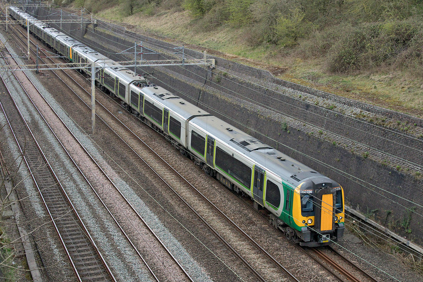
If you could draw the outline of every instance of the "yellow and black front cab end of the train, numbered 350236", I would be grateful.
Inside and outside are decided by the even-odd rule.
[[[314,178],[294,191],[293,221],[301,246],[317,247],[338,241],[344,232],[343,189],[328,178]]]

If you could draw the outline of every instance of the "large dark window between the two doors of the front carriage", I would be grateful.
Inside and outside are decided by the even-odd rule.
[[[251,186],[251,168],[235,159],[219,147],[216,147],[216,166],[232,176],[247,189]]]

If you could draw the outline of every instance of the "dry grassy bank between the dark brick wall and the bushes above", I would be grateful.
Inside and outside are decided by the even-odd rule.
[[[121,22],[136,32],[165,37],[189,48],[216,51],[244,64],[265,69],[283,69],[278,78],[334,93],[343,97],[423,117],[423,84],[421,78],[392,68],[376,68],[367,73],[339,75],[328,73],[322,58],[305,59],[295,52],[277,46],[251,47],[245,42],[245,31],[221,26],[204,31],[187,11],[163,12],[149,16],[139,12],[126,17],[123,7],[103,10],[98,17]],[[283,55],[280,55],[280,54]]]

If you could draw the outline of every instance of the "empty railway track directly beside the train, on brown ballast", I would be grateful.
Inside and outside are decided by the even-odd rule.
[[[68,74],[67,74],[67,72],[63,72],[64,74],[66,74],[66,76],[68,76]],[[70,76],[68,76],[69,78],[70,78]],[[72,78],[71,78],[72,79]],[[82,87],[80,84],[78,84],[80,87]],[[82,87],[83,88],[83,87]],[[72,88],[69,88],[69,89],[72,89]],[[87,95],[90,95],[90,93],[89,93],[89,91],[87,91],[87,90],[85,90],[86,91],[86,93],[87,93]],[[74,91],[73,91],[73,93],[75,93]],[[76,93],[75,93],[76,94]],[[77,95],[77,94],[76,94]],[[82,99],[83,100],[83,99]],[[86,104],[86,106],[87,106],[87,108],[90,108],[90,106],[89,106],[89,104],[88,103],[85,103]],[[99,103],[98,101],[97,101],[97,106],[101,106],[101,107],[103,107],[102,106],[102,104],[101,103]],[[116,116],[114,116],[110,111],[108,111],[105,107],[103,107],[103,109],[101,110],[102,111],[102,113],[101,114],[99,114],[99,115],[104,115],[105,113],[103,113],[103,112],[106,112],[106,114],[108,114],[109,116],[111,116],[116,122],[119,122],[119,123],[121,123],[121,121],[120,121],[120,119],[119,118],[117,118]],[[99,112],[99,110],[98,110],[98,112]],[[105,122],[106,123],[106,122]],[[121,125],[123,125],[123,123],[121,123]],[[123,125],[124,126],[124,125]],[[115,132],[115,130],[113,130],[112,128],[110,128],[113,132]],[[144,143],[143,142],[143,140],[141,140],[141,139],[139,139],[139,137],[137,136],[137,134],[135,134],[133,131],[131,131],[128,127],[126,127],[125,126],[125,129],[127,130],[127,132],[125,132],[125,133],[117,133],[117,132],[115,132],[115,134],[119,137],[119,138],[121,138],[122,139],[122,141],[123,142],[125,142],[126,144],[127,144],[127,146],[128,146],[128,148],[130,149],[130,150],[132,150],[132,148],[133,147],[137,147],[137,145],[129,145],[130,143],[131,143],[131,139],[134,139],[134,138],[136,138],[136,139],[138,139],[138,141],[140,142],[140,143],[142,143],[144,146],[145,146],[145,148],[147,149],[147,150],[149,150],[150,151],[150,156],[149,157],[147,157],[147,158],[151,158],[151,157],[153,157],[153,158],[155,158],[155,159],[158,159],[159,161],[161,161],[163,164],[165,164],[167,167],[168,167],[168,169],[170,169],[170,170],[172,170],[173,171],[173,176],[171,176],[170,178],[169,178],[169,176],[167,177],[167,179],[172,179],[172,177],[179,177],[180,178],[180,180],[181,181],[183,181],[183,182],[185,182],[185,185],[188,185],[188,187],[189,188],[191,188],[191,189],[194,189],[194,191],[196,191],[196,193],[200,196],[200,197],[202,197],[202,199],[203,200],[206,200],[207,202],[208,202],[208,204],[209,205],[211,205],[213,208],[215,208],[216,210],[218,210],[218,212],[221,214],[221,216],[226,220],[226,221],[228,221],[229,223],[231,223],[231,225],[232,225],[232,227],[233,228],[236,228],[237,229],[237,232],[241,232],[241,234],[242,234],[242,236],[244,237],[244,238],[247,238],[247,240],[249,240],[249,242],[255,247],[255,248],[257,248],[262,254],[264,254],[264,256],[266,257],[266,259],[268,259],[272,264],[274,264],[275,265],[275,267],[278,269],[278,271],[281,271],[281,272],[283,272],[283,273],[285,273],[285,275],[287,275],[287,277],[289,277],[289,279],[290,280],[293,280],[293,281],[298,281],[298,279],[293,275],[293,274],[291,274],[283,265],[281,265],[277,260],[275,260],[269,253],[267,253],[263,248],[261,248],[260,246],[259,246],[259,244],[257,244],[251,237],[249,237],[244,231],[242,231],[242,229],[241,228],[239,228],[233,221],[231,221],[220,209],[218,209],[212,202],[210,202],[206,197],[204,197],[197,189],[195,189],[195,187],[193,186],[193,185],[191,185],[182,175],[180,175],[179,173],[177,173],[176,172],[176,170],[172,167],[172,166],[170,166],[162,157],[160,157],[160,156],[158,156],[155,152],[154,152],[154,150],[152,149],[152,148],[150,148],[146,143]],[[123,136],[127,136],[127,137],[124,137],[123,138]],[[125,140],[124,140],[125,139]],[[137,154],[136,152],[134,152],[133,151],[133,153],[135,153],[135,154]],[[144,159],[143,158],[141,158],[140,157],[140,160],[141,161],[143,161],[144,162]],[[149,161],[149,163],[151,163],[152,161]],[[249,264],[249,262],[247,262],[247,260],[246,259],[244,259],[243,258],[243,255],[241,255],[237,250],[235,250],[232,246],[231,246],[231,244],[230,243],[228,243],[221,235],[219,235],[219,232],[218,231],[215,231],[214,229],[213,229],[213,227],[211,227],[205,220],[203,220],[202,219],[202,216],[200,216],[197,212],[195,212],[195,209],[194,208],[192,208],[185,200],[183,200],[183,198],[178,194],[178,192],[176,192],[175,191],[175,189],[174,188],[172,188],[172,186],[174,186],[174,185],[170,185],[169,184],[169,182],[174,182],[174,181],[172,181],[172,180],[165,180],[165,179],[163,179],[162,178],[162,176],[161,175],[159,175],[156,171],[155,171],[155,169],[154,168],[152,168],[151,166],[149,166],[149,164],[147,163],[147,162],[145,162],[145,164],[148,166],[148,167],[150,167],[150,169],[157,175],[157,177],[159,177],[159,178],[161,178],[162,180],[163,180],[163,182],[164,182],[164,184],[165,185],[167,185],[170,189],[172,189],[172,191],[175,193],[175,195],[177,195],[180,199],[181,199],[181,201],[183,201],[191,210],[192,210],[192,212],[193,213],[195,213],[197,216],[198,216],[198,218],[200,218],[201,220],[202,220],[202,222],[203,222],[203,224],[205,224],[206,226],[208,226],[208,228],[210,229],[210,231],[212,231],[214,234],[215,234],[215,236],[216,237],[218,237],[219,238],[219,240],[229,249],[229,250],[231,250],[232,252],[233,252],[233,254],[237,257],[237,259],[239,259],[240,261],[242,261],[242,263],[245,265],[245,267],[247,267],[248,268],[248,271],[250,271],[250,272],[252,272],[256,277],[257,277],[257,279],[258,280],[260,280],[260,281],[266,281],[266,279],[265,278],[263,278],[263,277],[261,277],[261,275],[254,269],[254,267],[252,267],[252,266],[250,266],[250,264]],[[182,188],[182,189],[186,189],[186,187],[184,187],[184,188]],[[210,220],[209,220],[210,221]],[[222,232],[222,231],[221,231]],[[245,242],[244,242],[245,243]]]

